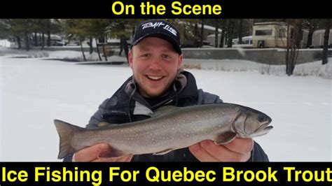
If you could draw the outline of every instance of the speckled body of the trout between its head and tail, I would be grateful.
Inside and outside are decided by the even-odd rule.
[[[140,122],[79,132],[72,143],[82,147],[105,141],[121,152],[135,155],[176,150],[229,131],[238,108],[241,107],[230,104],[179,108]],[[241,123],[238,126],[243,128]],[[261,131],[260,135],[267,131]]]

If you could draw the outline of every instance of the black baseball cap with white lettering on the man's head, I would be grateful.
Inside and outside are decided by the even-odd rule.
[[[172,43],[174,49],[179,53],[179,55],[182,53],[179,30],[165,20],[148,20],[141,22],[134,33],[131,47],[133,45],[137,45],[139,41],[147,37],[165,39],[166,41]]]

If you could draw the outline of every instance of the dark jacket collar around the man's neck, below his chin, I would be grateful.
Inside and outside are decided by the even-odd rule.
[[[180,71],[173,85],[167,92],[165,99],[151,106],[138,92],[138,85],[131,76],[111,96],[106,109],[109,113],[119,113],[120,110],[127,113],[132,121],[131,115],[151,115],[151,112],[160,106],[171,103],[174,106],[184,105],[185,101],[195,102],[198,100],[198,88],[194,76],[188,71]]]

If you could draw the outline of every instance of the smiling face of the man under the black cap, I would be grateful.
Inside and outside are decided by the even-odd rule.
[[[155,37],[144,38],[132,47],[129,65],[142,96],[156,97],[172,85],[181,67],[182,55],[172,44]]]

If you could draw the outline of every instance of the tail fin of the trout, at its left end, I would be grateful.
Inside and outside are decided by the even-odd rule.
[[[60,137],[60,150],[57,158],[62,159],[67,155],[74,154],[76,149],[71,145],[71,138],[75,131],[83,131],[84,128],[77,127],[61,120],[54,120],[54,124]]]

